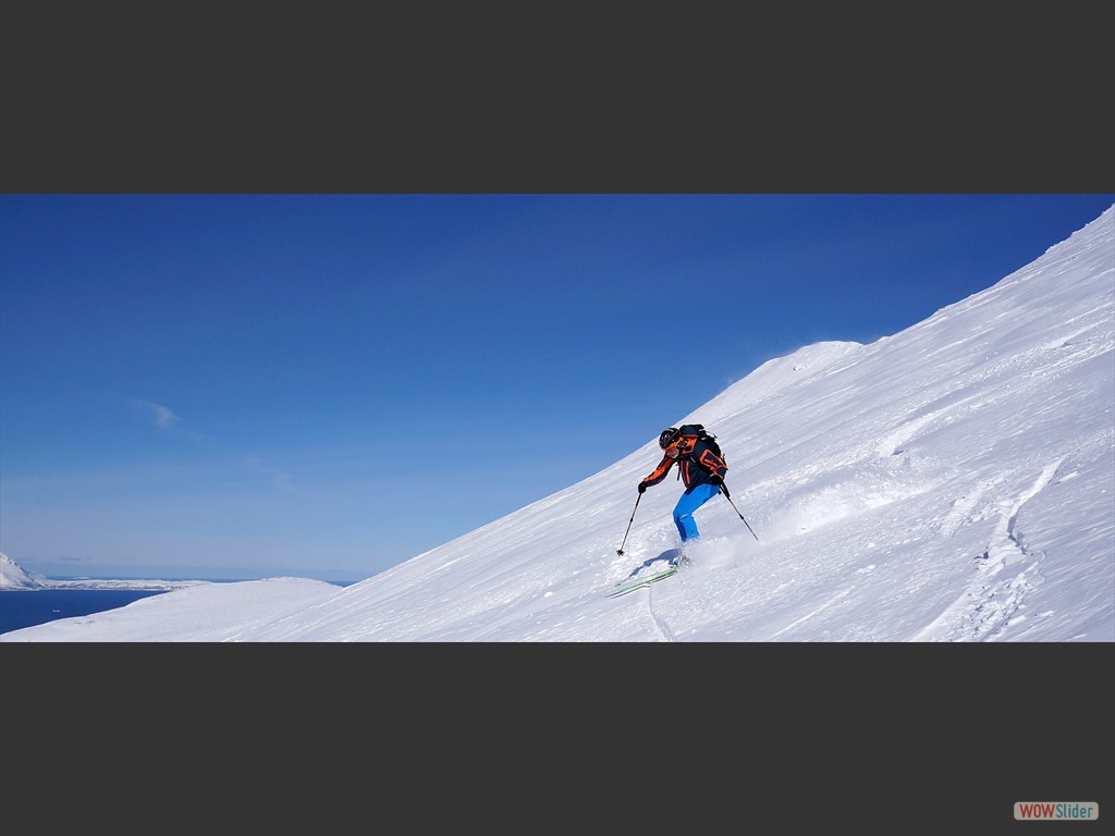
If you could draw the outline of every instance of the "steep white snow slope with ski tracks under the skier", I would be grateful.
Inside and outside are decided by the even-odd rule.
[[[678,545],[671,476],[617,554],[657,431],[352,586],[209,584],[2,641],[1115,641],[1113,348],[1115,207],[900,333],[807,346],[662,416],[718,436],[758,541],[715,498],[696,564],[649,589],[607,594]]]

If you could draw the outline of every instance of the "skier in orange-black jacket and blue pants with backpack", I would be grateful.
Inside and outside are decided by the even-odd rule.
[[[728,473],[715,441],[708,439],[700,425],[686,424],[681,427],[668,427],[658,437],[658,446],[662,448],[662,460],[655,472],[639,483],[642,494],[651,485],[657,485],[666,478],[670,467],[678,465],[685,493],[673,506],[673,524],[681,535],[682,547],[700,536],[694,512],[724,489],[724,475]],[[746,522],[746,521],[745,521]],[[688,556],[682,556],[682,563],[688,563]]]

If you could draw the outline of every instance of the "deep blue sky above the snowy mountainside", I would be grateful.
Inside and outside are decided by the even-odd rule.
[[[0,551],[58,577],[361,580],[1113,202],[4,194]]]

